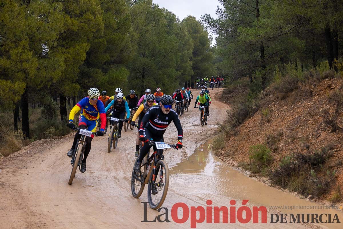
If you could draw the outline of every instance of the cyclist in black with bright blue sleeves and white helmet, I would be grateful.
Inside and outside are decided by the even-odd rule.
[[[128,102],[126,102],[124,98],[124,94],[121,92],[118,92],[117,98],[112,100],[112,102],[110,102],[106,108],[105,111],[107,112],[108,109],[113,106],[112,108],[112,117],[114,118],[119,118],[119,119],[123,119],[124,115],[125,115],[125,111],[126,111],[126,119],[125,122],[129,122],[129,117],[130,117],[130,110],[129,110],[129,105]],[[111,121],[112,123],[112,121]],[[121,137],[121,129],[123,128],[123,122],[119,121],[119,128],[118,128],[118,135],[117,137],[120,138]]]

